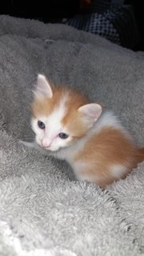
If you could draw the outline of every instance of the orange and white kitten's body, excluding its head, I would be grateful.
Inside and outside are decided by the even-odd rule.
[[[112,112],[106,112],[95,122],[89,134],[74,145],[58,150],[55,156],[69,162],[78,180],[88,180],[104,187],[124,178],[137,166],[140,160],[138,151],[118,118]]]

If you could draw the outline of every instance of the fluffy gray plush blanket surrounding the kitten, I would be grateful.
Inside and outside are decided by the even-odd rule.
[[[144,255],[144,162],[102,191],[32,141],[37,74],[114,110],[144,145],[144,54],[60,24],[0,16],[0,255]]]

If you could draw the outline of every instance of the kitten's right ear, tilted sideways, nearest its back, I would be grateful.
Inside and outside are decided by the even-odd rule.
[[[78,111],[82,114],[82,117],[84,118],[86,124],[91,127],[101,115],[102,106],[97,103],[90,103],[84,106],[80,106]]]

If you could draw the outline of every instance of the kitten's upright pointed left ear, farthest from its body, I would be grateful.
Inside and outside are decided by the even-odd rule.
[[[51,89],[50,83],[47,81],[46,77],[43,74],[38,74],[34,95],[36,98],[53,97],[53,91]]]

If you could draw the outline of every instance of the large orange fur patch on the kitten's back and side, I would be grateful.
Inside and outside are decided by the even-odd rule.
[[[114,178],[110,167],[126,166],[126,174],[134,168],[136,152],[137,148],[121,130],[106,127],[98,134],[92,135],[74,161],[86,162],[86,169],[82,170],[82,174],[92,174],[93,177],[95,175],[96,181],[99,179],[98,185],[104,187],[124,177],[122,173],[119,178]]]

